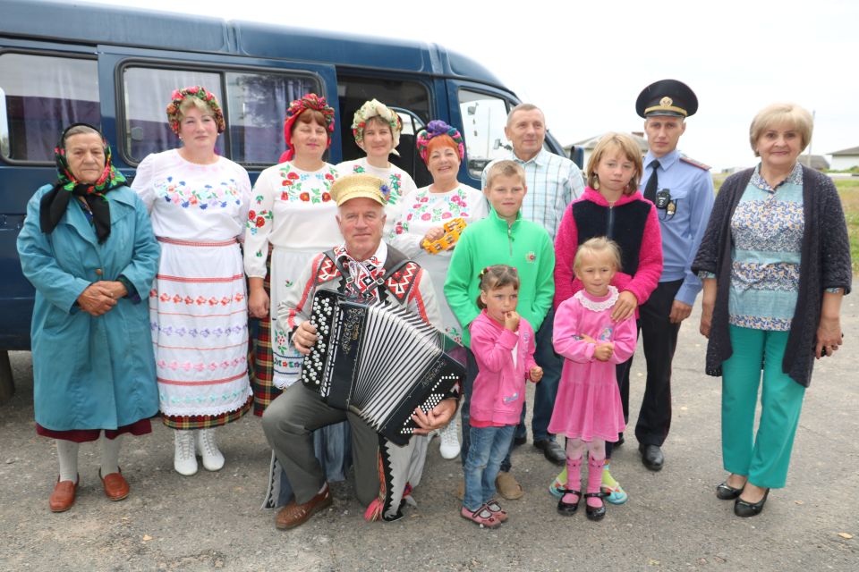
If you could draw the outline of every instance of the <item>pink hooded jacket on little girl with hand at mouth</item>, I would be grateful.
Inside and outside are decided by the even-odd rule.
[[[516,425],[525,401],[525,380],[534,361],[534,330],[525,318],[519,332],[510,332],[483,310],[469,325],[472,353],[477,360],[471,400],[472,425]],[[513,348],[516,364],[513,363]]]

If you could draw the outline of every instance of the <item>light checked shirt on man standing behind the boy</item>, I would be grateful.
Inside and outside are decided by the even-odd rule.
[[[582,172],[566,157],[549,153],[545,148],[530,161],[523,161],[511,151],[510,156],[499,157],[486,165],[481,176],[482,188],[486,188],[489,167],[503,159],[513,160],[525,170],[528,193],[522,201],[523,218],[541,224],[554,242],[566,206],[584,192]]]

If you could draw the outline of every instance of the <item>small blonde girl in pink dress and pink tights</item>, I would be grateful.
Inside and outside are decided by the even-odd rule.
[[[611,317],[619,294],[610,282],[620,264],[617,244],[604,237],[586,240],[573,263],[584,290],[562,302],[555,315],[555,351],[565,359],[549,433],[566,436],[566,489],[557,503],[566,516],[575,513],[582,496],[588,518],[605,516],[600,484],[606,442],[617,441],[625,429],[615,366],[634,354],[636,328],[634,315],[617,322]],[[585,449],[588,486],[582,495]]]

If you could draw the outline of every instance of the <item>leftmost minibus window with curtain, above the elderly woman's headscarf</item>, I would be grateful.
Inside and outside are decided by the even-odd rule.
[[[7,161],[54,163],[64,127],[101,123],[95,59],[0,54],[0,97],[0,155]]]

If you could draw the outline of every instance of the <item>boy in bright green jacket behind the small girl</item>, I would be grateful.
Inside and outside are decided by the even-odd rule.
[[[492,206],[489,216],[466,227],[456,243],[447,271],[445,296],[456,319],[463,326],[466,348],[470,345],[468,326],[481,313],[477,307],[480,296],[478,275],[487,266],[510,265],[516,268],[519,273],[519,303],[516,310],[532,324],[535,332],[540,329],[543,318],[552,306],[555,296],[555,248],[546,229],[522,218],[520,209],[527,190],[525,172],[519,164],[514,161],[493,164],[487,173],[486,189],[483,189]],[[469,405],[476,376],[477,364],[469,351],[462,404],[463,463],[470,444]],[[518,499],[523,495],[522,486],[509,471],[508,452],[496,483],[503,497]]]

